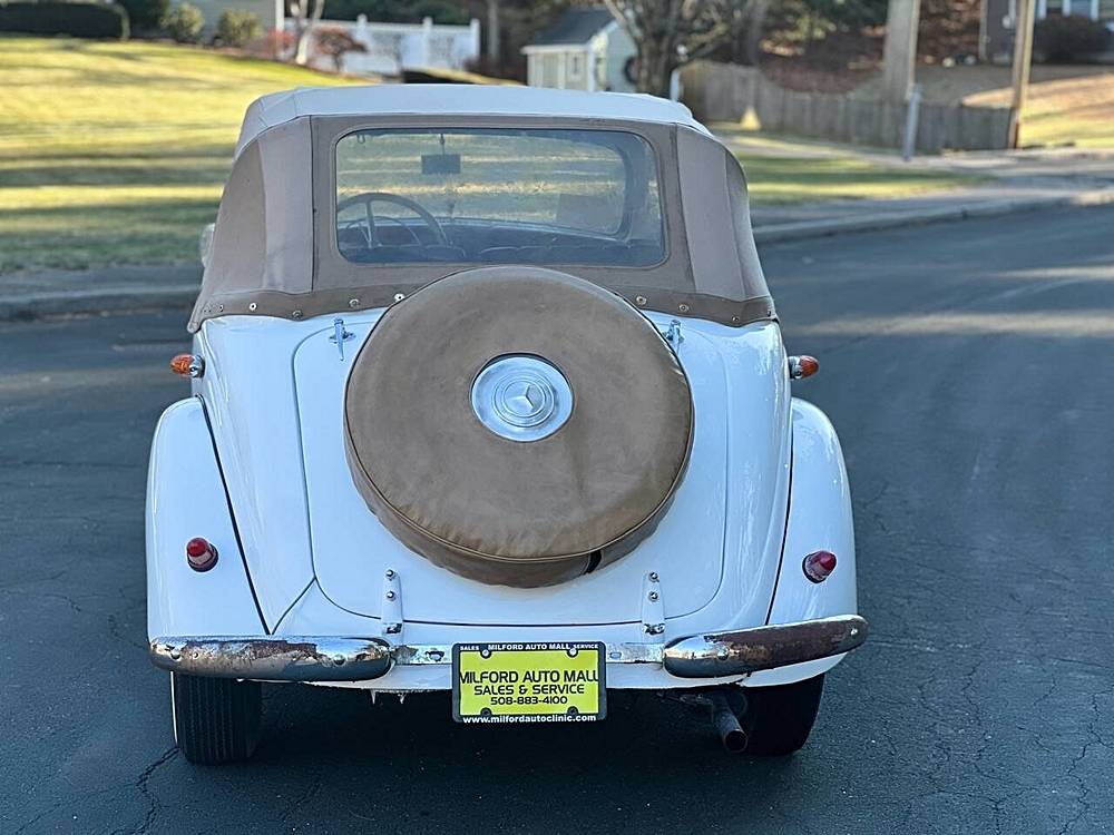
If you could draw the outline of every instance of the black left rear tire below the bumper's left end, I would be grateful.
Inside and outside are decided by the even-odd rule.
[[[190,763],[247,759],[260,739],[258,681],[170,674],[174,741]]]

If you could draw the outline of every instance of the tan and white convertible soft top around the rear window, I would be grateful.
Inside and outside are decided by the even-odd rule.
[[[301,320],[382,307],[467,263],[358,263],[338,247],[335,148],[367,130],[623,131],[653,149],[665,256],[551,264],[643,310],[740,326],[774,316],[739,163],[687,108],[651,96],[524,87],[299,89],[247,110],[189,330],[221,315]]]

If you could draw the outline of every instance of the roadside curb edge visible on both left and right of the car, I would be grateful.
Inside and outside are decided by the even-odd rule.
[[[1106,206],[1114,204],[1114,188],[1056,197],[1034,197],[1019,200],[994,200],[959,206],[947,206],[913,212],[876,213],[862,217],[833,220],[771,224],[754,228],[754,240],[772,244],[783,240],[804,240],[858,232],[895,229],[902,226],[921,226],[942,220],[966,220],[976,217],[995,217],[1042,208],[1068,206]],[[158,287],[106,287],[80,291],[49,291],[0,295],[0,322],[79,315],[107,315],[146,313],[150,311],[184,310],[197,299],[198,283],[176,283]]]

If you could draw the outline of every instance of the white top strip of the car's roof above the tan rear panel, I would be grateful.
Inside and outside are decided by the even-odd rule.
[[[707,128],[684,105],[632,92],[584,92],[480,85],[300,87],[256,99],[244,115],[236,154],[256,136],[303,116],[549,116],[626,119]]]

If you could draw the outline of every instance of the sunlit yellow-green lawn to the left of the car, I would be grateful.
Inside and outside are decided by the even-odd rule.
[[[134,41],[0,38],[0,272],[197,257],[244,109],[331,76]]]

